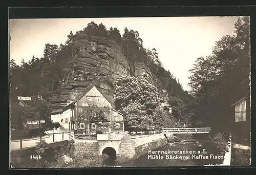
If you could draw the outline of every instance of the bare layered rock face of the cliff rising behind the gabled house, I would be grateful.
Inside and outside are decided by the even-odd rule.
[[[57,109],[67,105],[91,84],[113,101],[113,83],[119,77],[130,75],[130,67],[121,47],[114,40],[85,34],[76,36],[74,47],[77,55],[72,73],[63,80],[59,95],[51,97],[52,107]],[[135,74],[157,82],[143,63],[136,64]]]

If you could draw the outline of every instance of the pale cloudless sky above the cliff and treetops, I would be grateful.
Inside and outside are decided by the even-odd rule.
[[[169,70],[189,91],[188,70],[196,59],[212,53],[215,42],[224,35],[234,35],[239,16],[227,17],[133,17],[133,18],[52,18],[10,19],[10,59],[20,64],[32,56],[42,57],[45,44],[64,44],[70,31],[75,33],[94,21],[107,30],[116,27],[138,31],[147,49],[155,48],[165,70]]]

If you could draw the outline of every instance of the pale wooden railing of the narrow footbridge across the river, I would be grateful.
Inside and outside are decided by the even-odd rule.
[[[209,133],[211,127],[162,128],[163,133]]]

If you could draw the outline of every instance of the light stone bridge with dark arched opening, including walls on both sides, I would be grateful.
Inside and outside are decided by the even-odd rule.
[[[106,154],[110,157],[136,157],[150,149],[157,149],[167,144],[163,134],[145,136],[135,139],[122,139],[124,135],[97,135],[97,140],[75,139],[75,151],[82,153]],[[169,134],[169,136],[171,136]],[[137,151],[137,152],[136,152]]]

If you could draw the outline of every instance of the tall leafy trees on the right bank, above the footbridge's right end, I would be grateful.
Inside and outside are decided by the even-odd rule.
[[[210,126],[212,132],[227,132],[231,128],[227,109],[231,108],[228,92],[250,72],[249,17],[234,24],[236,35],[225,35],[215,43],[212,54],[200,57],[190,70],[189,85],[194,96],[194,126]],[[245,77],[245,78],[244,78]],[[249,85],[249,84],[248,84]]]

